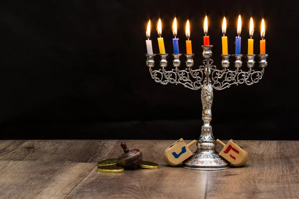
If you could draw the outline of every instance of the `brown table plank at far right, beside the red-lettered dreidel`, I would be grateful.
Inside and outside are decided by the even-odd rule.
[[[207,198],[299,198],[299,141],[238,141],[249,152],[241,168],[209,172]]]

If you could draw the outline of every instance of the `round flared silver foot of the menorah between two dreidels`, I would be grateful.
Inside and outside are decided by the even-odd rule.
[[[222,158],[216,151],[196,151],[183,162],[182,167],[196,170],[221,170],[230,168],[230,163]]]

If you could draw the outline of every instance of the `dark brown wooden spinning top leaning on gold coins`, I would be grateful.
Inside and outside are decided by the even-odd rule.
[[[129,151],[125,142],[121,143],[124,154],[118,159],[118,164],[125,169],[137,169],[142,161],[142,153],[139,149]]]

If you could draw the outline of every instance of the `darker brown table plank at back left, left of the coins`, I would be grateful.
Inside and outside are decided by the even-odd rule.
[[[96,163],[115,145],[116,140],[28,140],[0,160]]]

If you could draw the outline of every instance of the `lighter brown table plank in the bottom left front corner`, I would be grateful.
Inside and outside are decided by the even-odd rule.
[[[94,168],[93,163],[0,161],[0,198],[61,199]]]

